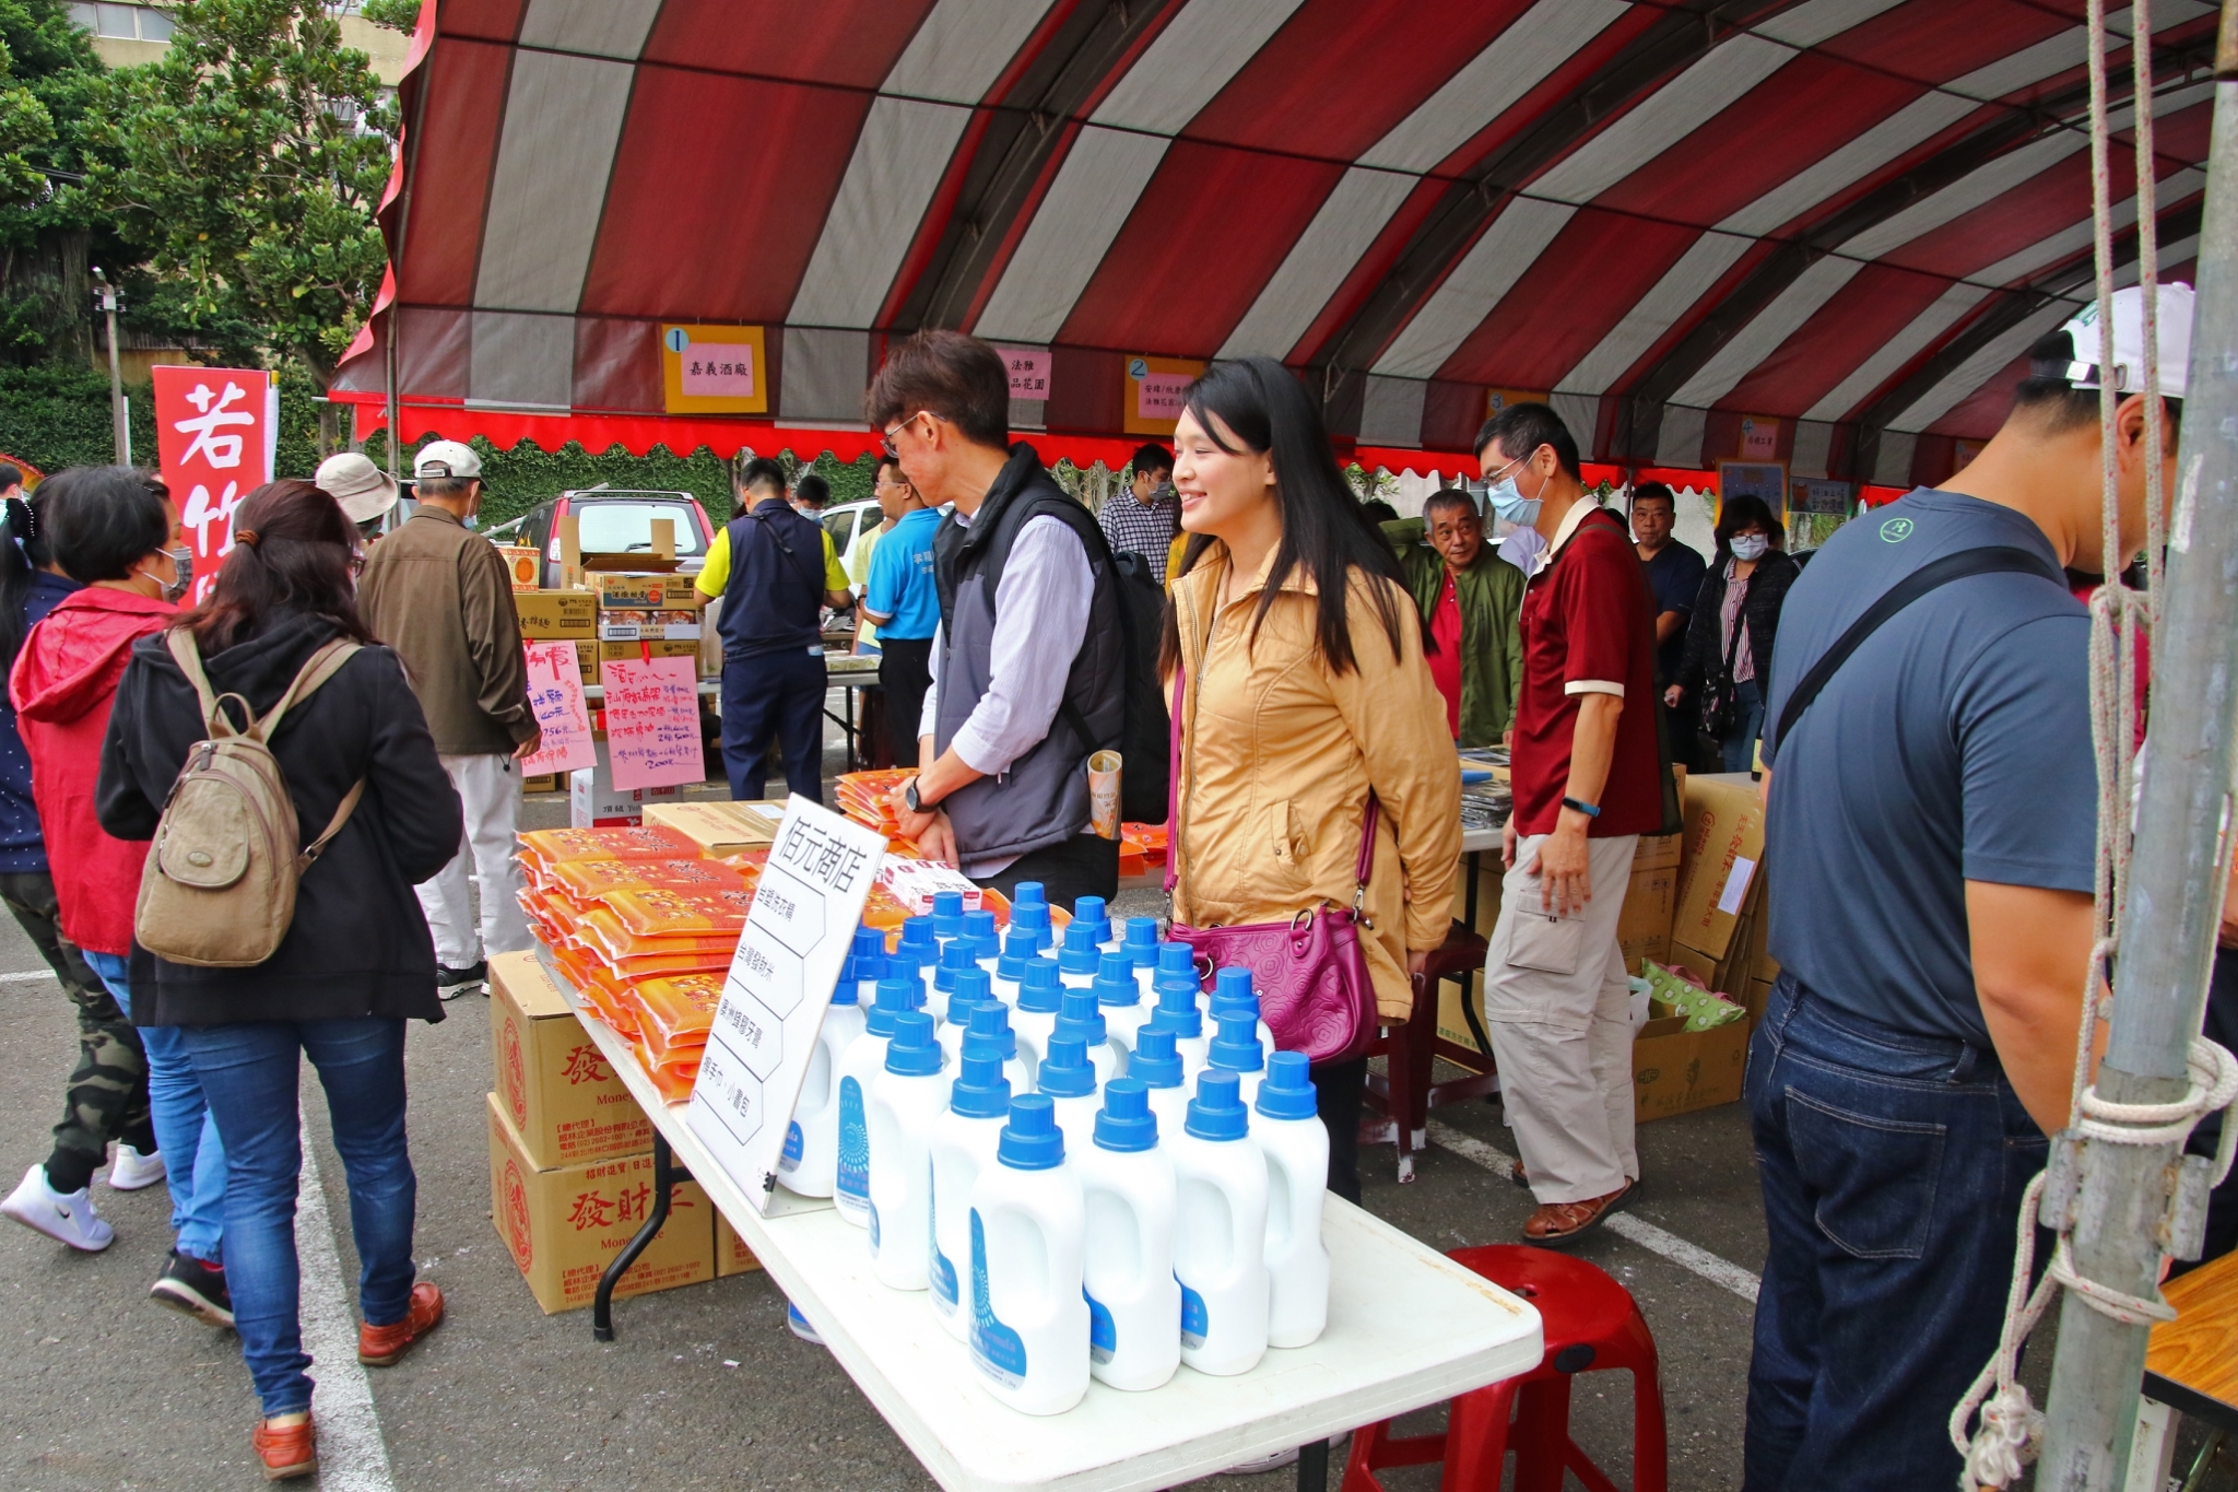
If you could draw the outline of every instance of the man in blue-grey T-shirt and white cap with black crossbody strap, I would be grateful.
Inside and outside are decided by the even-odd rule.
[[[2142,349],[2140,298],[2122,298],[2117,333],[2126,318]],[[1788,593],[1764,731],[1781,975],[1746,1085],[1770,1235],[1748,1492],[1958,1479],[1945,1425],[1996,1349],[2021,1190],[2068,1118],[2093,942],[2090,620],[2061,568],[2135,557],[2148,461],[2175,490],[2189,322],[2189,289],[2166,286],[2164,452],[2146,450],[2137,353],[2115,369],[2119,555],[2099,537],[2086,313],[2037,344],[1969,468],[1846,523]],[[1913,599],[1781,731],[1875,599],[1983,546],[2034,568]]]

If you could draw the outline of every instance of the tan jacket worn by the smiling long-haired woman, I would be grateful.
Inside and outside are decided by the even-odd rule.
[[[1173,584],[1184,676],[1173,915],[1206,926],[1350,906],[1374,787],[1374,926],[1361,933],[1383,1020],[1405,1020],[1405,955],[1446,942],[1461,859],[1461,769],[1414,604],[1392,584],[1403,640],[1394,662],[1367,591],[1390,582],[1354,577],[1358,667],[1336,673],[1314,646],[1311,582],[1282,582],[1253,640],[1264,570],[1217,608],[1226,568],[1215,544]],[[1170,678],[1166,689],[1170,698]]]

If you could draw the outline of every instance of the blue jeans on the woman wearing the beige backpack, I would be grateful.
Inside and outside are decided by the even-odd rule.
[[[242,1358],[264,1414],[311,1407],[311,1358],[295,1315],[295,1186],[302,1118],[295,1054],[327,1089],[333,1148],[349,1177],[349,1235],[358,1244],[358,1309],[374,1326],[401,1322],[412,1302],[412,1215],[419,1181],[405,1150],[405,1022],[251,1020],[179,1027],[233,1163],[226,1190],[226,1288]]]

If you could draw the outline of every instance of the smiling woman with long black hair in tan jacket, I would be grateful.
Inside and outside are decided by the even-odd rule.
[[[1173,485],[1191,535],[1162,667],[1182,673],[1173,915],[1285,922],[1350,906],[1381,803],[1361,944],[1385,1024],[1446,939],[1461,774],[1399,566],[1361,514],[1298,380],[1269,358],[1188,385]],[[1367,1060],[1314,1069],[1329,1190],[1358,1201]]]

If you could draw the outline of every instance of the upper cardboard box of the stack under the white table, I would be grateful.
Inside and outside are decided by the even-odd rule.
[[[653,1125],[535,953],[490,955],[490,1101],[537,1170],[653,1148]]]

